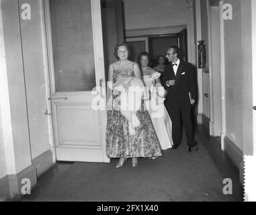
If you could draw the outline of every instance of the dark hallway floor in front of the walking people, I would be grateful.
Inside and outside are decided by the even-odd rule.
[[[116,169],[112,163],[57,163],[39,179],[32,195],[21,201],[243,201],[239,171],[215,138],[196,128],[199,150],[189,153],[183,142],[152,161],[139,159]],[[232,195],[222,193],[232,179]]]

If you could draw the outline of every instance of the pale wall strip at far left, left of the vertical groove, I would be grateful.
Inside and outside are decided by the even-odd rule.
[[[9,129],[5,128],[3,135],[5,136],[7,174],[16,174],[31,165],[22,46],[17,1],[1,1],[1,8],[7,69],[7,80],[5,80],[7,83],[5,84],[9,87],[8,99],[11,117],[5,118],[3,121]],[[4,72],[6,73],[6,71]]]

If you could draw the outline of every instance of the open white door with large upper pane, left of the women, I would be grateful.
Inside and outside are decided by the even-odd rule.
[[[100,0],[47,0],[45,6],[56,159],[110,162],[106,111],[91,106],[105,91]]]

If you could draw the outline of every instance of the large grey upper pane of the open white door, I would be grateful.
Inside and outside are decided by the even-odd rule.
[[[50,1],[57,92],[90,91],[95,84],[91,2]]]

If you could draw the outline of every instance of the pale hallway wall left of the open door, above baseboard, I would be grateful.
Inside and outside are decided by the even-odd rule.
[[[30,20],[19,19],[17,7],[31,5]],[[50,149],[46,111],[46,82],[42,36],[42,1],[19,0],[3,2],[3,30],[7,56],[7,74],[11,95],[13,134],[17,142],[27,142],[31,148],[17,144],[15,152],[35,159]],[[22,13],[20,9],[20,13]],[[20,22],[20,26],[19,26]],[[26,155],[24,150],[30,152]],[[22,162],[17,166],[22,165]],[[26,166],[19,167],[17,172]]]

